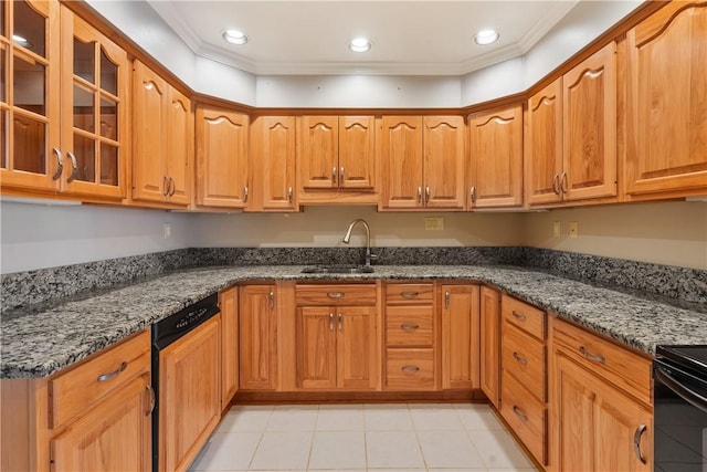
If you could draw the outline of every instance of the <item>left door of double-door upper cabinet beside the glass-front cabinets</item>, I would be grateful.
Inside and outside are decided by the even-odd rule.
[[[165,171],[167,155],[167,81],[145,64],[133,69],[133,198],[165,201],[169,180]]]

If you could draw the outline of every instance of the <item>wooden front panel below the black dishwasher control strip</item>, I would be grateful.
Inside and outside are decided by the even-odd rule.
[[[159,472],[186,471],[221,420],[221,318],[159,357]]]

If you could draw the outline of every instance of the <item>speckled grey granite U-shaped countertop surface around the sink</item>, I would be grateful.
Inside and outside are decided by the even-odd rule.
[[[40,378],[239,282],[458,280],[486,283],[646,355],[707,344],[707,314],[563,279],[488,265],[380,265],[370,274],[303,274],[300,265],[198,268],[165,274],[0,324],[0,378]]]

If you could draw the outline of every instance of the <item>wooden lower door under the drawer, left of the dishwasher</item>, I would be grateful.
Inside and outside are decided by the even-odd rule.
[[[108,397],[51,441],[53,470],[151,470],[150,376]]]

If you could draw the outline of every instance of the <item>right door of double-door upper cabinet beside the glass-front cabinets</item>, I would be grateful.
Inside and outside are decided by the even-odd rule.
[[[172,86],[167,88],[167,133],[165,171],[168,177],[170,203],[191,203],[193,182],[192,160],[194,149],[194,120],[191,99]]]

